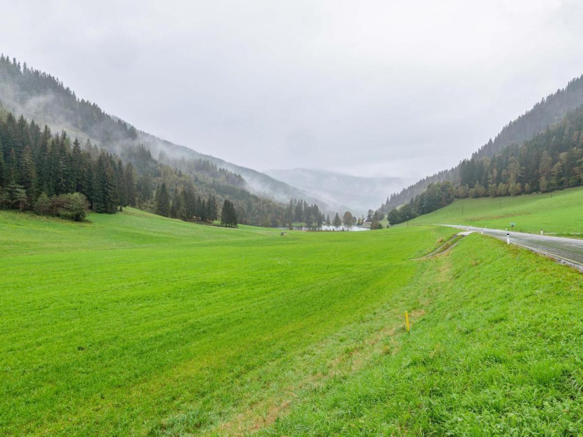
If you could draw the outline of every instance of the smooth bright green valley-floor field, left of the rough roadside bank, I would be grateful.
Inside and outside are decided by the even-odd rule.
[[[0,213],[4,432],[252,428],[374,329],[408,259],[452,232],[90,220]]]

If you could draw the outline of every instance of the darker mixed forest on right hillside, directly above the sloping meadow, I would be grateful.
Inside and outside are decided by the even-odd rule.
[[[494,157],[474,156],[458,165],[459,179],[429,184],[399,209],[390,223],[430,213],[456,198],[515,196],[583,184],[583,106],[522,145],[513,143]]]

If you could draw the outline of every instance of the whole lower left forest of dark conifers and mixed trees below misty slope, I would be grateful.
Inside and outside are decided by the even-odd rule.
[[[129,205],[166,217],[212,221],[219,218],[217,203],[230,199],[239,223],[290,223],[296,203],[308,217],[322,220],[316,205],[308,207],[303,200],[283,205],[253,195],[236,186],[238,175],[208,161],[192,163],[193,177],[160,164],[141,145],[125,152],[122,160],[90,140],[82,145],[66,131],[52,133],[0,108],[0,207],[78,220],[85,203],[99,213]]]

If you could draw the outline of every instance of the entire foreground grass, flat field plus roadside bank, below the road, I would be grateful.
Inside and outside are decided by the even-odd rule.
[[[0,212],[0,434],[577,434],[579,273],[479,235]],[[403,330],[403,311],[412,332]]]

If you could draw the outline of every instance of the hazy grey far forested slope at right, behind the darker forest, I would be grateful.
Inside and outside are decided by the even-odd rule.
[[[581,104],[583,104],[583,76],[571,80],[566,87],[543,98],[531,110],[504,126],[494,140],[490,139],[473,153],[471,160],[480,160],[484,157],[492,158],[500,153],[504,147],[520,146],[525,140],[531,139],[550,125],[559,122],[567,112],[578,108]],[[381,205],[381,212],[385,213],[399,205],[408,203],[415,196],[420,195],[431,183],[451,181],[453,184],[458,184],[461,181],[461,166],[462,163],[449,170],[442,170],[421,179],[399,193],[393,193],[387,202]]]

